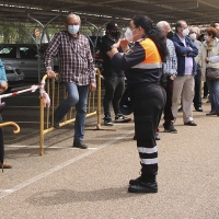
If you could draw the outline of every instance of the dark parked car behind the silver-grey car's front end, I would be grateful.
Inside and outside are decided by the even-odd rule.
[[[37,51],[35,44],[0,44],[0,59],[19,66],[25,81],[39,82],[45,74],[44,53],[47,46],[42,44]],[[58,58],[54,58],[54,70],[58,71]]]

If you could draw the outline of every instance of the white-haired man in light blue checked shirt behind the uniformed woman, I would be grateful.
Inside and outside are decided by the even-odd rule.
[[[163,73],[166,77],[166,103],[164,106],[164,131],[165,132],[174,132],[177,130],[173,126],[173,114],[172,114],[172,96],[173,96],[173,80],[177,74],[177,58],[175,54],[175,46],[172,41],[170,41],[166,36],[168,33],[171,32],[171,26],[168,22],[161,21],[157,24],[157,26],[161,30],[163,36],[166,41],[166,47],[169,50],[169,56],[166,57],[166,62],[163,64]]]

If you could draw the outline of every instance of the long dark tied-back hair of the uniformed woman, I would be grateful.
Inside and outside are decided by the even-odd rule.
[[[168,56],[168,48],[161,31],[157,26],[154,27],[152,21],[146,15],[135,15],[132,21],[136,27],[141,26],[145,30],[148,37],[152,39],[158,47],[161,60],[165,61]]]

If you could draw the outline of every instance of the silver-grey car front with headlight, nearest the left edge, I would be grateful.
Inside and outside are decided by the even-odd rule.
[[[20,87],[23,84],[24,81],[24,72],[19,68],[19,66],[8,62],[8,61],[2,61],[5,73],[7,73],[7,79],[8,79],[8,92],[11,91],[11,89]]]

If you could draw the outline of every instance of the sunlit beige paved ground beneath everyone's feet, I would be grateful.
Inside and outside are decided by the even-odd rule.
[[[158,194],[127,193],[140,170],[132,122],[85,130],[88,150],[71,148],[67,125],[46,135],[43,157],[37,134],[5,139],[13,169],[0,173],[0,218],[219,219],[219,117],[203,108],[194,112],[197,127],[184,126],[178,113],[178,134],[162,132],[161,123]],[[94,127],[89,118],[85,128]]]

